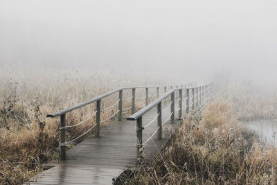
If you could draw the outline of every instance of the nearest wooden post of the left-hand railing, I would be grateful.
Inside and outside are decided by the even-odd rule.
[[[66,160],[66,123],[65,114],[60,116],[60,159]]]

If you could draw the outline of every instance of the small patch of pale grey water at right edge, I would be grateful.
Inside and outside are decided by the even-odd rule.
[[[244,123],[244,126],[258,134],[260,141],[277,146],[277,120],[251,121]]]

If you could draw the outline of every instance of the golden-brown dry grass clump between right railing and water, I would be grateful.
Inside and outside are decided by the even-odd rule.
[[[151,164],[126,170],[117,184],[276,184],[276,148],[265,148],[237,124],[226,102],[187,118]]]

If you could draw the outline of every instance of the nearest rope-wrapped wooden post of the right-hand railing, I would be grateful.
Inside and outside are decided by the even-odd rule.
[[[143,161],[143,117],[136,120],[136,163]]]

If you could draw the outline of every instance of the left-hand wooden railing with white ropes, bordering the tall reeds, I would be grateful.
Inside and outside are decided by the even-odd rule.
[[[110,120],[111,118],[114,118],[116,115],[118,117],[118,121],[122,121],[123,120],[123,111],[127,110],[127,109],[132,110],[133,115],[129,117],[129,119],[132,119],[132,117],[134,117],[134,115],[136,115],[135,114],[136,89],[145,89],[145,96],[143,98],[145,98],[145,106],[146,107],[142,109],[144,111],[145,109],[149,109],[149,107],[152,106],[152,103],[149,104],[149,100],[151,98],[150,94],[149,94],[149,89],[153,89],[153,88],[157,89],[157,94],[154,95],[154,98],[157,98],[158,100],[161,100],[161,98],[163,99],[163,97],[165,97],[165,96],[167,97],[168,94],[171,94],[171,96],[174,98],[174,95],[172,95],[172,92],[177,91],[178,88],[180,88],[179,89],[179,94],[182,94],[182,91],[183,91],[184,88],[185,89],[187,88],[187,91],[189,89],[193,88],[193,94],[194,94],[195,89],[197,89],[196,85],[197,84],[195,82],[192,82],[192,83],[188,83],[186,85],[175,85],[175,86],[170,85],[170,86],[154,86],[154,87],[125,87],[125,88],[116,89],[114,91],[110,91],[107,94],[102,94],[100,96],[97,96],[96,98],[92,98],[91,100],[87,100],[83,103],[79,103],[78,105],[74,105],[73,107],[62,109],[59,112],[54,112],[54,113],[48,114],[46,116],[48,118],[55,118],[57,116],[60,116],[60,159],[62,161],[66,160],[66,146],[67,146],[68,143],[71,143],[71,142],[75,141],[76,139],[79,139],[80,137],[84,136],[84,134],[87,134],[89,131],[91,131],[93,128],[96,129],[96,132],[95,132],[96,137],[99,137],[100,136],[100,123],[105,122],[107,120]],[[170,87],[171,90],[168,91],[167,87]],[[177,88],[173,89],[173,87],[177,87]],[[206,88],[206,89],[204,89],[206,91],[207,91],[208,87],[210,87],[210,85],[203,86],[203,88]],[[160,89],[162,89],[162,88],[163,88],[164,93],[161,96]],[[132,89],[132,96],[130,98],[123,99],[123,91],[129,90],[129,89]],[[118,104],[118,111],[115,114],[111,115],[111,117],[107,118],[106,120],[101,121],[101,112],[105,111],[107,109],[110,109],[114,106],[114,105],[112,105],[111,107],[109,107],[107,109],[101,109],[101,100],[103,98],[106,98],[108,96],[111,96],[111,95],[117,94],[117,93],[118,93],[118,100],[116,101],[116,104],[114,104],[114,105]],[[189,93],[189,91],[188,91],[188,93]],[[139,98],[139,99],[143,99],[143,98]],[[127,109],[123,109],[123,100],[131,100],[131,107],[128,107]],[[92,103],[96,103],[96,112],[94,112],[87,120],[82,121],[82,123],[78,123],[78,124],[75,124],[75,125],[66,125],[66,114],[67,113],[72,112],[75,109],[80,109],[81,107],[90,105]],[[181,101],[180,101],[180,103],[181,103]],[[198,103],[198,100],[197,100],[197,103]],[[174,105],[174,103],[172,103],[171,109],[174,110],[173,105]],[[195,106],[195,104],[193,103],[193,109],[194,109],[194,106]],[[158,109],[159,109],[159,107],[158,107]],[[189,112],[189,106],[186,107],[186,112],[187,113]],[[181,117],[181,114],[182,114],[182,109],[180,108],[179,109],[179,117]],[[66,141],[66,128],[76,127],[78,125],[82,125],[83,123],[86,123],[89,119],[94,118],[94,117],[96,117],[96,124],[95,125],[93,125],[89,130],[87,130],[86,132],[84,132],[83,134],[78,136],[77,138],[75,138],[71,141]],[[172,122],[174,122],[174,118],[175,118],[175,114],[173,113]],[[160,134],[160,136],[161,136],[161,134]]]

